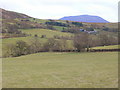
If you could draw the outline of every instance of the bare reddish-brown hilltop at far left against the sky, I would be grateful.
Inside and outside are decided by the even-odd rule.
[[[27,16],[25,14],[13,12],[13,11],[8,11],[8,10],[1,9],[1,8],[0,8],[0,11],[2,11],[2,18],[3,19],[30,18],[30,16]]]

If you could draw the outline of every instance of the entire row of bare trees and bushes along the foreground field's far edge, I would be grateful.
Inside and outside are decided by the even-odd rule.
[[[117,38],[114,38],[113,36],[100,34],[95,37],[84,32],[75,34],[69,41],[73,41],[74,50],[78,52],[89,51],[91,47],[95,46],[118,44]],[[15,44],[6,45],[6,52],[3,57],[17,57],[38,52],[70,50],[68,44],[66,38],[49,38],[47,42],[41,43],[39,37],[34,37],[29,43],[19,40]]]

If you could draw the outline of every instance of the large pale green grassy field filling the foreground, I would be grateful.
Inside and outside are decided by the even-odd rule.
[[[4,88],[116,88],[118,53],[37,53],[3,59]]]

